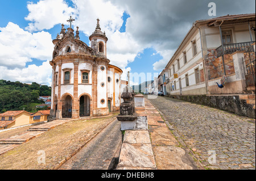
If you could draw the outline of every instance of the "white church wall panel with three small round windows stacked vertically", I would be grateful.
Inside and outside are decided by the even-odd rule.
[[[104,66],[105,70],[102,71],[101,70],[101,66],[104,66],[104,65],[99,65],[97,70],[98,70],[98,75],[97,75],[97,79],[98,79],[98,85],[97,85],[97,94],[98,94],[98,108],[103,108],[103,107],[107,107],[108,105],[108,99],[107,99],[107,85],[106,85],[106,82],[107,82],[107,77],[106,77],[106,66]],[[101,87],[101,82],[104,82],[105,83],[105,86],[104,87]],[[105,99],[105,103],[102,104],[101,103],[101,99]]]

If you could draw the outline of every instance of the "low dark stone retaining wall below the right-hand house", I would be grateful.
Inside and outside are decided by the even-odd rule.
[[[246,100],[241,100],[239,95],[172,95],[171,98],[218,108],[255,119],[253,105],[247,104]]]

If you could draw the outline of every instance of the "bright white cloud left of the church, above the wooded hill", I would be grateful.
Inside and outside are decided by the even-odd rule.
[[[51,60],[53,44],[48,32],[30,33],[11,22],[0,31],[0,66],[23,68],[31,58]]]

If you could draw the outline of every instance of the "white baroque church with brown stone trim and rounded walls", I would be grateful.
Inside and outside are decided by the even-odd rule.
[[[72,21],[67,30],[62,24],[57,34],[52,61],[52,104],[53,119],[79,118],[86,116],[104,116],[118,111],[121,104],[122,87],[121,69],[110,65],[107,58],[105,32],[101,31],[100,20],[92,35],[89,36],[91,47],[76,35]],[[125,84],[125,85],[122,85]]]

